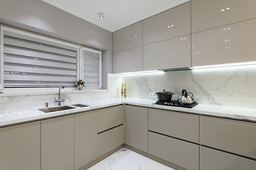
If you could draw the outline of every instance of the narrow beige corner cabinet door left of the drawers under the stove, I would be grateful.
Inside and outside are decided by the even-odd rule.
[[[148,108],[126,105],[126,144],[148,152]]]

